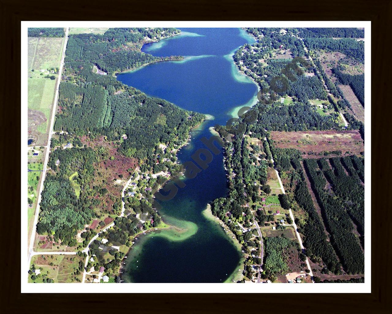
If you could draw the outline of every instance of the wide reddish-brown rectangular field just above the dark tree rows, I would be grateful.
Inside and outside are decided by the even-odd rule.
[[[295,148],[303,154],[304,158],[327,157],[317,155],[322,152],[341,150],[344,155],[359,155],[364,152],[364,144],[357,130],[353,131],[299,131],[281,132],[272,131],[271,138],[279,148]],[[307,155],[312,152],[313,155]],[[348,153],[347,153],[348,152]],[[328,155],[331,157],[332,155]]]

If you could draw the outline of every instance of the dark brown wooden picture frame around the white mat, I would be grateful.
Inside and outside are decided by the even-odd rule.
[[[0,1],[2,33],[3,313],[391,313],[391,13],[392,2],[282,0],[149,2]],[[370,294],[21,294],[20,293],[20,22],[23,20],[370,20],[372,22],[372,292]],[[333,27],[333,25],[331,25]],[[369,158],[369,156],[367,155]],[[368,178],[369,179],[369,178]],[[22,183],[23,184],[23,183]],[[381,190],[380,190],[381,188]],[[5,202],[4,202],[5,200]],[[366,280],[366,277],[365,277]],[[346,286],[345,286],[346,287]],[[219,285],[216,287],[219,292]],[[349,292],[350,285],[347,285]],[[129,292],[129,291],[124,291]],[[167,291],[165,291],[167,292]]]

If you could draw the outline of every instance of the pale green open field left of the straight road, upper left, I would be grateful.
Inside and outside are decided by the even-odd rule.
[[[60,67],[64,38],[28,38],[27,106],[28,137],[47,144],[47,129]],[[34,71],[33,71],[34,70]],[[42,71],[40,71],[42,70]],[[45,76],[54,76],[54,79]]]

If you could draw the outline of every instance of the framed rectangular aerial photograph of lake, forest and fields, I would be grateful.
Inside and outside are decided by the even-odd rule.
[[[27,286],[365,283],[365,28],[26,29]]]

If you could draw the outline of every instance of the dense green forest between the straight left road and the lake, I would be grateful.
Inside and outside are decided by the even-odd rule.
[[[121,210],[120,195],[116,196],[118,192],[108,193],[109,183],[105,180],[96,182],[97,177],[102,179],[103,170],[109,171],[108,162],[114,161],[114,156],[109,156],[108,148],[103,146],[83,145],[81,138],[83,141],[104,138],[107,143],[114,144],[118,159],[126,162],[134,160],[143,172],[147,172],[159,170],[157,154],[171,157],[170,153],[163,154],[159,144],[169,148],[180,146],[187,140],[189,130],[205,118],[200,113],[182,110],[165,100],[147,97],[123,85],[114,75],[109,75],[161,61],[161,58],[142,53],[140,48],[148,40],[176,33],[179,31],[172,28],[116,28],[103,35],[70,35],[60,83],[60,110],[54,122],[56,136],[51,141],[52,152],[48,162],[51,171],[44,182],[38,234],[51,235],[55,241],[61,240],[63,245],[76,246],[78,230],[83,230],[85,224],[98,217],[94,208],[100,205],[104,213]],[[108,75],[93,73],[94,65],[107,71]],[[63,144],[68,142],[73,147],[63,149]],[[98,167],[101,161],[105,168]],[[159,166],[167,170],[171,163],[162,162]],[[127,171],[131,174],[132,170]],[[123,174],[117,176],[122,177]],[[105,199],[103,205],[100,204],[102,199]],[[107,209],[106,203],[110,206]],[[156,226],[160,217],[152,211],[151,203],[152,195],[148,195],[140,206],[154,214]],[[119,223],[116,221],[116,225]],[[126,243],[129,242],[128,235],[136,232],[135,226],[124,237]],[[92,230],[82,233],[83,245],[87,245],[93,234]],[[111,235],[110,239],[125,244],[121,232]],[[117,261],[113,262],[113,265],[117,264]]]

